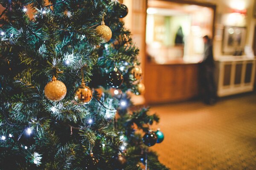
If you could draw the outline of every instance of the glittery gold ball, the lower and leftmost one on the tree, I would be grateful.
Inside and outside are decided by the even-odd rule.
[[[44,95],[47,99],[52,100],[53,102],[61,101],[66,94],[66,86],[63,82],[57,80],[55,76],[53,76],[52,81],[44,87]]]

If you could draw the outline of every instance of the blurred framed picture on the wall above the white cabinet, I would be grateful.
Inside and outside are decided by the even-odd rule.
[[[222,39],[224,54],[240,55],[244,51],[246,27],[225,26]]]

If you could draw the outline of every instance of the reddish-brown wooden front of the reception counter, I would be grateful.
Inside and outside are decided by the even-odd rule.
[[[198,63],[174,61],[145,64],[145,100],[148,104],[184,101],[198,96]]]

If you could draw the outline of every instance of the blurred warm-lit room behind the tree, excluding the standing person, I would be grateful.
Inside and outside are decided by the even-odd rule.
[[[129,8],[125,26],[144,73],[142,95],[132,100],[160,116],[165,140],[151,147],[160,161],[172,170],[254,170],[255,0],[120,2]],[[205,35],[215,65],[217,100],[210,105],[200,84]]]

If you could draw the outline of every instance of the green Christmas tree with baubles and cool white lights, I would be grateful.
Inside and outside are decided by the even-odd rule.
[[[120,20],[127,7],[0,3],[0,169],[166,170],[148,150],[163,139],[150,131],[159,118],[130,109],[142,71]]]

